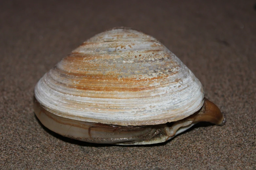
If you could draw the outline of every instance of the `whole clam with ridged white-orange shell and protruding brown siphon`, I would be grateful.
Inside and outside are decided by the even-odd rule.
[[[34,112],[45,127],[92,143],[160,143],[200,121],[225,122],[179,58],[131,28],[88,39],[47,72],[34,92]]]

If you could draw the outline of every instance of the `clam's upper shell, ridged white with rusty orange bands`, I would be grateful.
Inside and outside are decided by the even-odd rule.
[[[115,28],[85,41],[46,73],[37,101],[68,119],[116,125],[181,120],[203,105],[194,74],[158,40]]]

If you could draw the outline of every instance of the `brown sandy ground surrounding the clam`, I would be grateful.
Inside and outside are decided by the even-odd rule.
[[[0,169],[256,169],[256,1],[0,2]],[[115,26],[159,39],[227,115],[149,146],[80,142],[44,128],[37,81]]]

